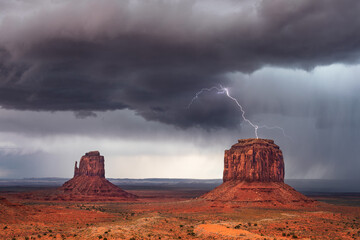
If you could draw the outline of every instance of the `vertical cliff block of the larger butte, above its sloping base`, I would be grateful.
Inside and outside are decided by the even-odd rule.
[[[273,140],[241,139],[225,150],[223,181],[284,182],[282,152]]]

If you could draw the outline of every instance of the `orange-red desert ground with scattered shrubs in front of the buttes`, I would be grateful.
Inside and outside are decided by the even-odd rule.
[[[67,202],[21,200],[19,195],[5,194],[10,201],[1,200],[0,239],[360,238],[359,205],[319,202],[296,209],[255,208],[196,198],[203,192],[194,190],[130,192],[140,198]],[[340,196],[337,199],[343,204]]]

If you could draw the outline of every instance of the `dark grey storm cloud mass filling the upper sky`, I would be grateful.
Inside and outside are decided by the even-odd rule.
[[[0,1],[0,105],[132,109],[181,127],[238,124],[226,73],[355,63],[357,0]],[[205,101],[206,100],[206,101]],[[224,107],[225,106],[225,107]],[[256,106],[254,109],[257,109]]]

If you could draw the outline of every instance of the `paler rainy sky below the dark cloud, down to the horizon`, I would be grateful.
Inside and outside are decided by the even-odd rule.
[[[337,64],[312,72],[264,68],[227,77],[251,121],[281,126],[290,137],[278,129],[259,130],[259,137],[282,149],[286,178],[358,179],[359,74],[360,65]],[[147,121],[133,110],[76,118],[71,111],[0,109],[0,178],[70,177],[74,161],[90,150],[104,154],[108,177],[221,178],[224,149],[254,137],[251,126],[239,125],[240,113],[228,100],[204,93],[190,108],[210,111],[220,102],[236,116],[236,127],[211,131]],[[221,117],[226,118],[209,114],[198,121],[209,127]]]

